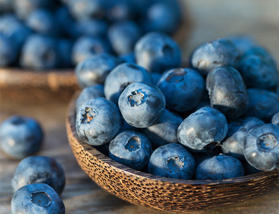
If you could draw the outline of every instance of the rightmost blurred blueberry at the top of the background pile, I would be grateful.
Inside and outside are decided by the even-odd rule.
[[[146,31],[172,34],[180,19],[181,11],[177,0],[157,0],[148,7],[143,26]]]

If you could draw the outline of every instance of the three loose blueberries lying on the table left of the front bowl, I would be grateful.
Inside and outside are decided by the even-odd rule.
[[[13,159],[23,158],[11,180],[11,214],[65,214],[59,197],[65,186],[61,165],[50,157],[29,156],[42,142],[42,128],[30,117],[11,116],[0,126],[1,150]]]

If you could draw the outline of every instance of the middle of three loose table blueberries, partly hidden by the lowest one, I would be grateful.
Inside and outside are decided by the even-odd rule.
[[[45,156],[30,156],[22,159],[11,180],[13,192],[27,184],[44,183],[61,194],[65,186],[65,174],[61,165]]]

